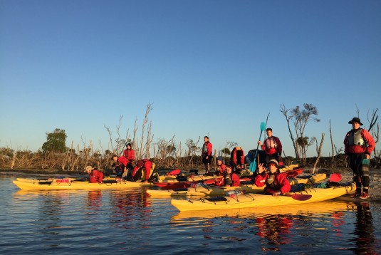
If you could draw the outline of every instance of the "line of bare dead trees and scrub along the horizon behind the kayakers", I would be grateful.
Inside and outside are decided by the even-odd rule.
[[[119,124],[116,127],[116,137],[113,135],[110,127],[105,126],[105,130],[107,130],[110,137],[110,148],[107,150],[103,150],[102,145],[100,145],[100,150],[93,150],[93,143],[91,141],[88,144],[83,141],[82,146],[74,146],[73,142],[71,142],[71,147],[66,147],[66,131],[56,128],[53,132],[46,132],[46,142],[43,143],[41,150],[37,152],[1,147],[0,167],[11,170],[35,168],[38,170],[77,171],[83,170],[86,165],[93,165],[93,167],[98,169],[110,169],[112,155],[122,155],[127,143],[132,144],[137,160],[142,158],[150,159],[155,162],[157,168],[202,167],[202,145],[199,146],[201,137],[198,137],[197,140],[187,139],[184,146],[181,142],[179,145],[176,145],[174,136],[170,140],[158,139],[153,142],[155,136],[151,132],[152,123],[148,119],[152,109],[152,104],[148,104],[145,118],[140,126],[137,125],[137,120],[135,120],[132,135],[129,134],[130,130],[127,130],[125,136],[121,135],[122,116],[120,116]],[[371,115],[367,116],[367,120],[370,123],[368,130],[374,137],[376,145],[379,137],[377,110],[373,110]],[[324,133],[322,133],[320,141],[315,137],[304,135],[304,130],[308,123],[320,122],[320,119],[316,117],[318,115],[318,108],[305,103],[303,108],[296,106],[296,108],[286,109],[285,105],[281,105],[280,111],[286,118],[295,152],[295,157],[286,157],[284,155],[283,159],[286,165],[296,163],[298,165],[313,167],[313,171],[315,171],[316,167],[348,167],[343,155],[343,147],[336,147],[333,144],[331,129],[330,142],[332,151],[330,152],[330,157],[321,157],[321,147],[325,138]],[[357,109],[358,115],[360,115],[360,111]],[[307,159],[306,152],[313,145],[315,145],[316,157]],[[226,142],[224,149],[219,151],[214,150],[214,157],[218,155],[223,157],[225,162],[229,162],[231,150],[236,146],[238,146],[236,142]],[[375,158],[371,164],[372,167],[378,168],[380,167],[381,152],[375,148],[374,153]]]

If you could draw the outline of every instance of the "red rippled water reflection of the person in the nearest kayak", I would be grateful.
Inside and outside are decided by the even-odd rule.
[[[257,236],[268,239],[268,247],[263,247],[263,251],[278,251],[279,245],[290,243],[288,235],[293,227],[293,221],[286,215],[269,215],[268,217],[257,217]]]

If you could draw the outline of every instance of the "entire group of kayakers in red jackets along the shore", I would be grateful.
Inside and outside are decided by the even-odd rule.
[[[344,139],[345,157],[348,160],[349,166],[353,171],[353,181],[356,184],[356,192],[353,197],[367,199],[369,194],[369,160],[372,151],[375,148],[375,140],[370,132],[361,128],[360,118],[353,118],[348,122],[352,125],[352,129],[347,132]],[[253,181],[258,187],[266,185],[265,191],[268,194],[277,196],[290,192],[291,185],[284,175],[280,175],[279,163],[282,160],[282,144],[278,137],[273,136],[271,128],[266,129],[267,138],[257,144],[261,146],[261,150],[265,153],[265,159],[258,164],[257,174],[254,175]],[[210,163],[212,162],[213,145],[209,142],[209,137],[204,137],[204,145],[202,147],[202,162],[205,167],[205,174],[210,172]],[[115,164],[115,173],[117,177],[137,181],[143,179],[144,182],[150,182],[152,172],[155,168],[150,160],[137,160],[135,166],[135,151],[130,143],[126,145],[123,155],[113,155]],[[256,160],[256,159],[254,159]],[[222,186],[239,186],[239,176],[237,172],[244,169],[245,156],[241,147],[234,147],[231,152],[230,165],[225,165],[221,157],[216,158],[218,166],[217,175],[222,176],[220,185]],[[85,171],[89,175],[90,182],[101,183],[103,180],[103,172],[87,166]]]

